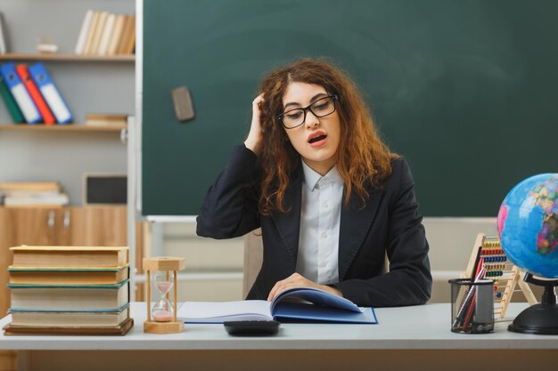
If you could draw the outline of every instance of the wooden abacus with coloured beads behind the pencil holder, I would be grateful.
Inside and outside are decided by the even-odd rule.
[[[473,272],[483,267],[485,269],[484,278],[494,280],[495,317],[505,318],[505,311],[515,292],[521,291],[530,305],[537,303],[537,298],[527,282],[520,279],[519,268],[505,256],[500,239],[479,233],[472,247],[467,270],[461,274],[461,277],[472,278]],[[519,286],[519,289],[516,289],[516,286]]]

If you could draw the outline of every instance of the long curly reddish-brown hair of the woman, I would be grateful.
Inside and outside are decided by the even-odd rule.
[[[370,110],[357,85],[341,69],[325,60],[297,60],[275,69],[265,77],[259,93],[264,94],[261,106],[263,133],[261,192],[258,209],[268,215],[273,210],[286,213],[283,205],[291,174],[300,167],[300,155],[288,141],[283,125],[277,118],[283,113],[283,95],[291,83],[323,86],[338,96],[336,111],[341,123],[341,141],[336,153],[337,170],[346,186],[345,206],[352,192],[363,201],[368,199],[367,186],[377,187],[391,173],[390,160],[398,155],[380,139]]]

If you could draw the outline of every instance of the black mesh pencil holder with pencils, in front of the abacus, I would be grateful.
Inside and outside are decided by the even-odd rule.
[[[461,334],[494,332],[494,281],[450,279],[451,331]]]

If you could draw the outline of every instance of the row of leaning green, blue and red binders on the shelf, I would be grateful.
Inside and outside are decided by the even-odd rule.
[[[0,95],[15,124],[64,125],[73,121],[68,105],[41,62],[0,66]]]

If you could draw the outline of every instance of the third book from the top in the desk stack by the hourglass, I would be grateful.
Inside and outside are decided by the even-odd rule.
[[[115,285],[8,284],[10,311],[121,311],[129,302],[128,280]]]

